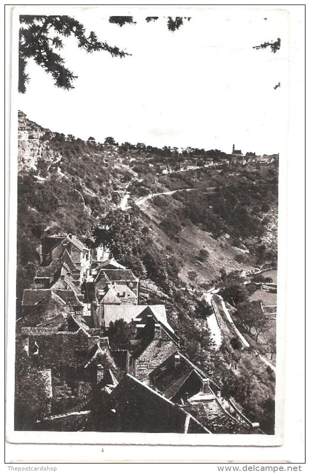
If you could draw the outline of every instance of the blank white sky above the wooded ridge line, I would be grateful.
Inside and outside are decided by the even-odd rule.
[[[243,153],[281,150],[288,117],[287,12],[264,7],[39,9],[33,13],[74,15],[99,40],[131,56],[87,54],[69,39],[60,54],[78,76],[70,91],[57,89],[29,62],[30,82],[26,93],[18,94],[18,108],[30,120],[98,142],[112,136],[119,143],[158,147],[231,152],[234,144]],[[181,13],[191,20],[169,32],[163,16]],[[109,24],[109,15],[117,14],[132,15],[136,24]],[[158,21],[145,22],[155,15]],[[252,48],[277,38],[281,48],[275,54]]]

